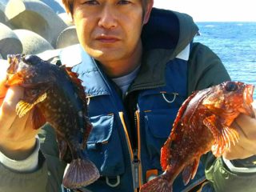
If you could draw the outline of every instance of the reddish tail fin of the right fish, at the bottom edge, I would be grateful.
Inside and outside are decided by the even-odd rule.
[[[150,182],[146,182],[142,187],[140,192],[172,192],[173,191],[173,183],[168,181],[162,175],[158,176],[150,180]]]

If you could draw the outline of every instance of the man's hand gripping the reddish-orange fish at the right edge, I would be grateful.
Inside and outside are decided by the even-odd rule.
[[[256,113],[256,102],[254,102],[254,112]],[[230,150],[224,152],[223,157],[229,160],[244,159],[256,155],[256,118],[250,118],[241,114],[236,118],[233,125],[238,130],[239,141]]]

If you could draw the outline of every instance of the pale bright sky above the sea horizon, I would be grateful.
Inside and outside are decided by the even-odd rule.
[[[154,0],[154,6],[190,14],[196,22],[256,22],[256,0]]]

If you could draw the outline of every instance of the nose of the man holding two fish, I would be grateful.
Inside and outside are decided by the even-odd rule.
[[[118,26],[117,14],[114,9],[110,6],[105,6],[102,9],[102,13],[100,15],[98,26],[102,26],[106,29],[111,29]]]

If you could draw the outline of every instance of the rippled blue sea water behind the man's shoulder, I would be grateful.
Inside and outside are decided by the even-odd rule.
[[[256,86],[256,22],[197,22],[194,42],[209,46],[234,81]],[[256,90],[254,90],[256,99]]]

